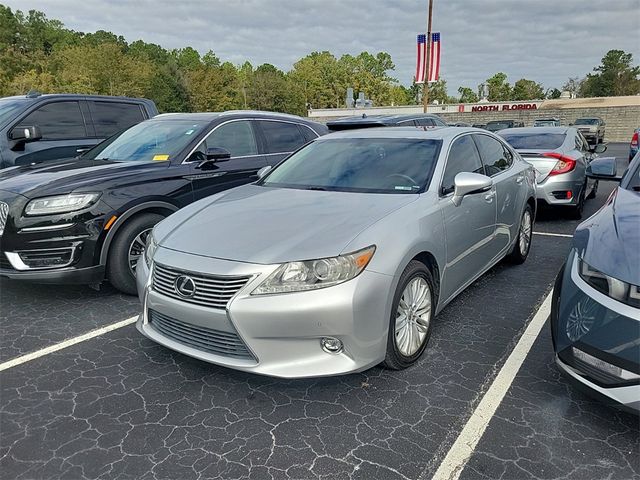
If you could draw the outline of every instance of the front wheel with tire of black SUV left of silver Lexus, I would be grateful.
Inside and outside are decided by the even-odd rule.
[[[107,279],[115,288],[129,295],[136,294],[134,258],[144,254],[146,235],[164,219],[157,213],[143,213],[127,220],[113,240],[107,258]],[[143,238],[144,237],[144,238]],[[141,247],[142,243],[142,247]]]

